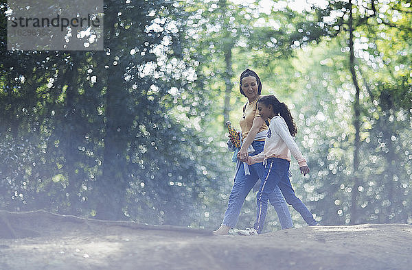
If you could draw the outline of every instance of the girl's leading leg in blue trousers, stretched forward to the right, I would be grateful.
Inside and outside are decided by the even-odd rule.
[[[317,221],[314,220],[312,213],[308,210],[305,204],[295,195],[295,191],[293,190],[292,184],[290,184],[290,180],[287,175],[282,178],[277,186],[279,186],[280,190],[282,191],[286,202],[293,206],[293,208],[297,210],[299,214],[301,214],[301,217],[304,218],[308,225],[314,226],[318,224]]]

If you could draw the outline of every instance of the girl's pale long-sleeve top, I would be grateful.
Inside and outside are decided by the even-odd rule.
[[[288,125],[283,117],[274,116],[268,127],[263,151],[251,158],[254,162],[262,162],[268,158],[282,158],[290,161],[290,153],[296,158],[299,167],[308,166],[295,140],[290,135]]]

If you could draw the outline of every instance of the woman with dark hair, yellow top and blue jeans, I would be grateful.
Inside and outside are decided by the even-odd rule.
[[[248,99],[248,103],[243,108],[243,118],[240,120],[242,145],[238,151],[235,182],[229,196],[225,218],[220,228],[213,232],[216,235],[229,234],[229,230],[236,226],[244,199],[258,179],[263,179],[264,173],[262,162],[251,166],[246,163],[249,155],[255,156],[263,151],[268,129],[257,110],[257,102],[262,92],[262,82],[258,74],[250,69],[243,71],[240,75],[239,89],[240,93]],[[270,193],[269,201],[277,212],[282,229],[293,227],[288,206],[277,186]]]

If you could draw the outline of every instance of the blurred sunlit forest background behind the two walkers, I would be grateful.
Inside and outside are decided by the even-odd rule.
[[[0,209],[218,228],[249,68],[295,118],[319,223],[412,223],[411,1],[107,0],[104,51],[8,51],[0,8]]]

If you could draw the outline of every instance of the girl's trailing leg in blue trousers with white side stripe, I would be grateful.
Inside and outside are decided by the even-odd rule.
[[[258,204],[258,209],[256,211],[256,221],[254,228],[260,234],[263,230],[264,219],[266,217],[266,212],[268,209],[268,198],[269,194],[273,192],[275,186],[280,181],[279,170],[284,170],[284,164],[282,162],[277,162],[277,159],[269,159],[266,169],[264,170],[263,181],[260,186],[260,190],[256,195],[256,203]]]

